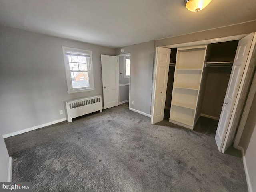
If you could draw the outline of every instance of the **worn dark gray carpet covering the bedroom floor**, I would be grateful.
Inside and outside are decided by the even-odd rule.
[[[34,192],[246,192],[240,151],[127,106],[5,139],[13,181]]]

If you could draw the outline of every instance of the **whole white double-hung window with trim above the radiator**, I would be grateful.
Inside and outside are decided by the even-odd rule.
[[[68,93],[94,90],[92,51],[62,47]]]

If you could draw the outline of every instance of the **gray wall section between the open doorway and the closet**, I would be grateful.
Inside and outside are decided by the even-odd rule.
[[[116,48],[116,55],[131,53],[130,107],[150,114],[154,63],[154,41],[125,46],[124,53]]]

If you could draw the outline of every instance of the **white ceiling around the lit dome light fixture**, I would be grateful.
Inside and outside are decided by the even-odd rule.
[[[255,0],[0,0],[0,24],[108,47],[256,20]]]

